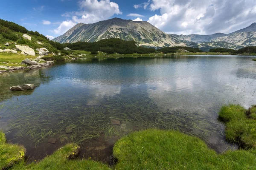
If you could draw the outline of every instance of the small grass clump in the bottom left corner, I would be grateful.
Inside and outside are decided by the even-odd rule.
[[[25,152],[26,149],[23,146],[6,143],[4,133],[0,132],[0,170],[23,160]]]

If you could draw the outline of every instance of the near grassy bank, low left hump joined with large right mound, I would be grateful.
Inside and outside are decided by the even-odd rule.
[[[20,161],[13,170],[142,170],[142,169],[256,169],[256,150],[227,151],[217,154],[197,137],[178,131],[144,130],[131,133],[116,142],[113,156],[117,164],[76,159],[79,146],[67,144],[41,161]]]

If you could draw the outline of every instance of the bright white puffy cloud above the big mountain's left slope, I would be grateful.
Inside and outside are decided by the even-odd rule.
[[[63,34],[76,23],[96,23],[101,20],[107,20],[114,14],[122,14],[117,3],[110,0],[80,0],[79,11],[66,12],[63,17],[72,17],[54,30],[55,34]],[[66,30],[66,31],[65,31]]]

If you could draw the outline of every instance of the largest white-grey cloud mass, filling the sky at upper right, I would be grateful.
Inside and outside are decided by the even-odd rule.
[[[255,0],[151,0],[136,7],[159,10],[148,22],[175,34],[230,33],[256,21]]]

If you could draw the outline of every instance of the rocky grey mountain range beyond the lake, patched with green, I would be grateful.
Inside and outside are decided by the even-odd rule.
[[[204,51],[210,48],[239,49],[256,46],[256,23],[230,34],[176,35],[166,34],[147,21],[132,21],[113,18],[93,24],[79,23],[65,34],[53,39],[61,43],[96,42],[102,39],[120,38],[134,40],[144,47],[198,47]]]

